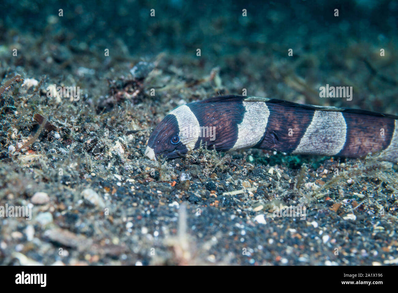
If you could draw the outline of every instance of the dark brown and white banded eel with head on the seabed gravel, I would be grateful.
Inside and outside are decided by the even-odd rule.
[[[398,116],[283,100],[220,96],[182,105],[154,129],[145,155],[183,156],[207,144],[358,158],[379,153],[398,162]]]

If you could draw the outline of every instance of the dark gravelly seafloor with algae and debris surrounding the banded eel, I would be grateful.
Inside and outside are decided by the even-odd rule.
[[[338,17],[322,1],[16,3],[0,9],[1,85],[24,79],[0,93],[0,206],[29,206],[32,219],[0,219],[0,264],[398,263],[396,164],[144,157],[169,111],[243,88],[397,115],[397,2],[347,1]],[[80,100],[48,98],[53,84],[79,86]],[[352,86],[352,101],[320,98],[326,84]],[[273,217],[280,204],[306,218]]]

